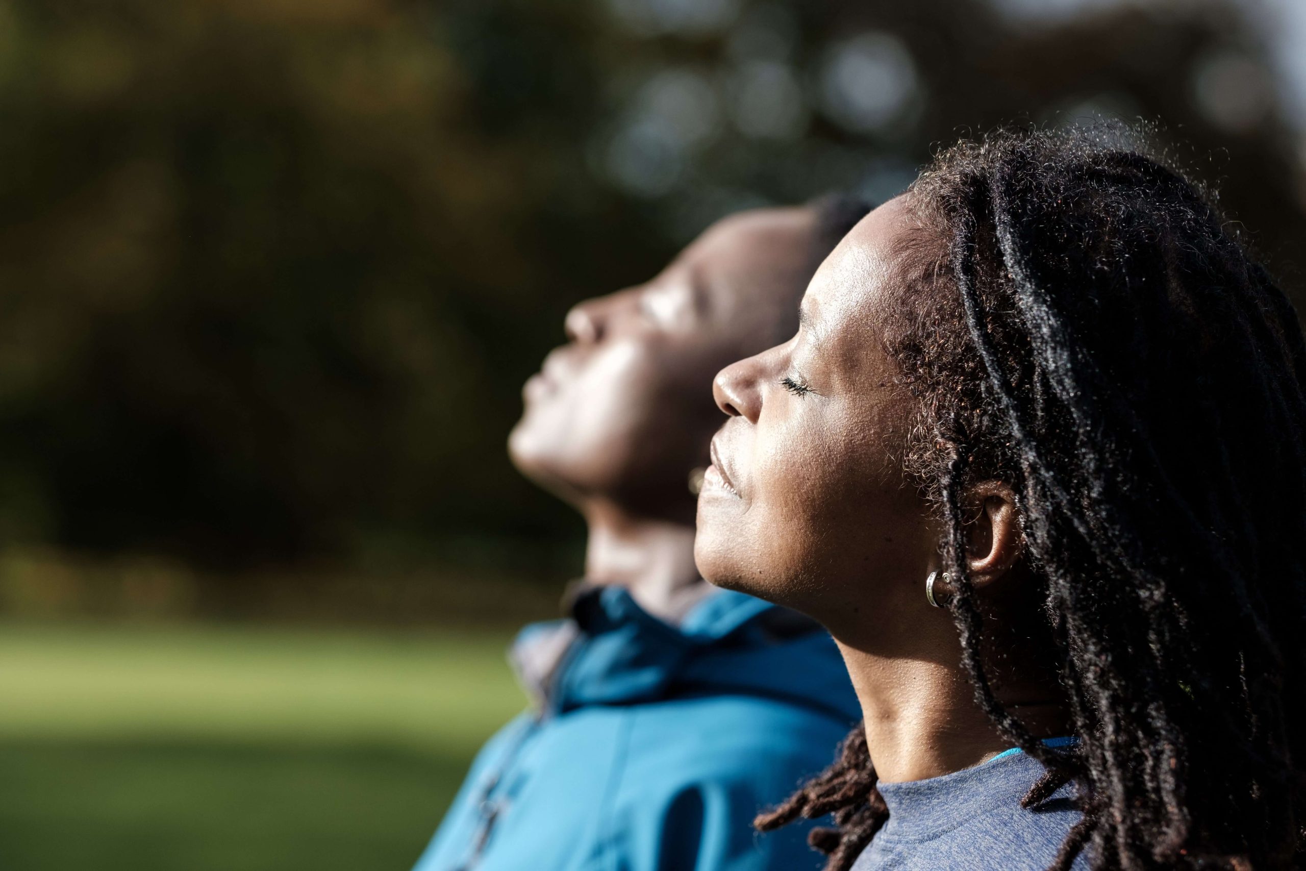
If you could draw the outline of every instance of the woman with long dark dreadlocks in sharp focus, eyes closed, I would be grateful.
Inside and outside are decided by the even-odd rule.
[[[943,153],[724,370],[696,558],[824,623],[865,721],[757,820],[827,868],[1303,861],[1306,349],[1105,137]]]

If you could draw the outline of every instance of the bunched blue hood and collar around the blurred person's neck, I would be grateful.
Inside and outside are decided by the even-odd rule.
[[[511,654],[543,716],[707,695],[773,697],[861,717],[844,659],[815,622],[713,590],[673,626],[615,586],[582,590],[569,620],[526,627]]]

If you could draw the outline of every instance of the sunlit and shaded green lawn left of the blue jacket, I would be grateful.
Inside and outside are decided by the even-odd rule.
[[[505,633],[0,626],[0,868],[406,870]]]

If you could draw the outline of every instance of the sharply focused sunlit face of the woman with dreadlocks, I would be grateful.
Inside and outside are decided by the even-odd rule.
[[[909,303],[906,232],[901,197],[867,215],[812,278],[797,336],[714,383],[730,419],[699,498],[699,569],[836,636],[874,624],[868,610],[923,601],[917,580],[936,563],[927,505],[902,473],[913,404],[885,350]]]

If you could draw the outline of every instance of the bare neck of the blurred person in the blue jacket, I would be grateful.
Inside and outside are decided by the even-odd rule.
[[[710,588],[693,564],[693,526],[640,516],[611,503],[585,508],[585,578],[629,590],[649,614],[669,622]]]

